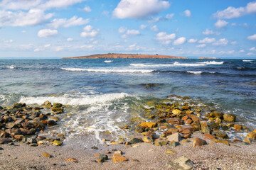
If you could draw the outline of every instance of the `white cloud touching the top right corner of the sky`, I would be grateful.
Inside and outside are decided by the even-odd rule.
[[[250,13],[256,13],[256,2],[250,2],[247,4],[247,6],[239,7],[239,8],[229,6],[223,11],[217,11],[216,13],[213,13],[213,17],[230,19],[230,18],[238,18],[240,16],[245,16]]]

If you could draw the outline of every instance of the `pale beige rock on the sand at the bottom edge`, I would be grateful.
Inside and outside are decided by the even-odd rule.
[[[189,170],[193,168],[193,162],[190,159],[182,156],[175,159],[174,162],[166,162],[166,166],[176,170]]]

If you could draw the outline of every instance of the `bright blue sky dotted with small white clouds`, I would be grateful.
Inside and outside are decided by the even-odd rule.
[[[256,1],[0,1],[0,58],[110,52],[256,59]]]

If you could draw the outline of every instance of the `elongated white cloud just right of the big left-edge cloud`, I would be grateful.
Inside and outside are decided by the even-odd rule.
[[[59,28],[60,26],[63,26],[65,28],[71,27],[71,26],[82,26],[87,23],[89,23],[89,19],[83,19],[82,17],[78,18],[78,16],[73,16],[72,18],[59,18],[59,19],[53,19],[51,23],[48,24],[51,28]]]

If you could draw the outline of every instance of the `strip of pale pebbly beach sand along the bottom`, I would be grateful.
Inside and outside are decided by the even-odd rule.
[[[192,137],[203,135],[193,133]],[[159,147],[149,143],[134,145],[112,145],[99,149],[75,145],[30,147],[24,143],[0,145],[0,169],[169,169],[166,162],[185,156],[194,164],[193,169],[256,169],[256,144],[231,144],[230,146],[206,140],[207,145],[192,147],[192,142],[181,142],[177,147]],[[65,141],[64,141],[65,143]],[[95,162],[95,154],[105,154],[108,149],[120,149],[127,162],[113,162],[112,154],[107,154],[106,162]],[[176,154],[166,154],[172,150]],[[53,157],[42,157],[48,152]],[[78,162],[67,162],[67,158],[78,159]]]

